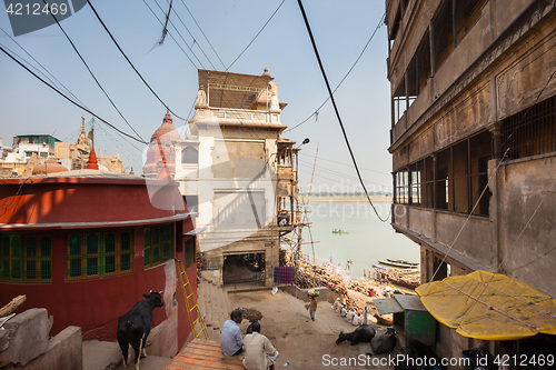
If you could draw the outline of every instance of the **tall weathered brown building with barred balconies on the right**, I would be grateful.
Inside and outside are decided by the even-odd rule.
[[[554,8],[386,1],[391,226],[420,246],[423,282],[487,270],[556,297]],[[445,357],[470,344],[437,339]]]

